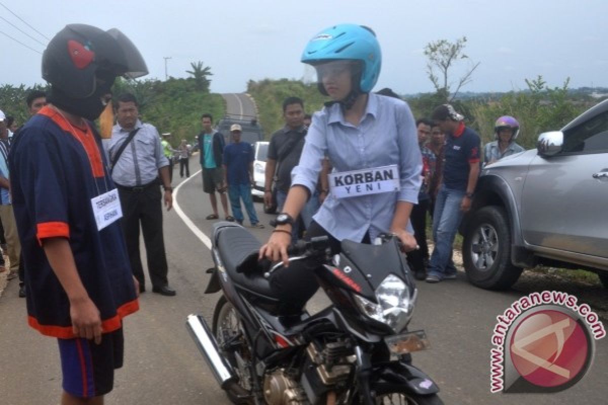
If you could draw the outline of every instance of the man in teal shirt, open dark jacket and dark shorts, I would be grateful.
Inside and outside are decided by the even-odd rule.
[[[234,218],[228,211],[228,199],[226,198],[226,184],[224,184],[224,172],[222,169],[222,157],[224,153],[224,137],[219,132],[213,132],[213,117],[211,114],[201,116],[202,131],[196,138],[198,148],[201,151],[202,189],[209,194],[209,200],[213,214],[206,219],[218,219],[218,200],[215,191],[219,192],[219,199],[224,208],[226,220],[233,221]]]

